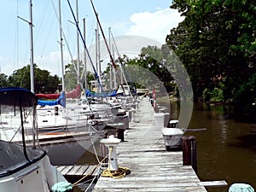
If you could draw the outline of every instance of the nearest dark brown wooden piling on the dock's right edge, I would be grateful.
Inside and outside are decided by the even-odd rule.
[[[192,166],[197,172],[196,143],[194,136],[183,136],[183,166]]]

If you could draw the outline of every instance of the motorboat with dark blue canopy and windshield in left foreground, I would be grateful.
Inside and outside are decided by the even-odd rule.
[[[0,191],[49,192],[56,183],[67,183],[38,145],[37,103],[30,90],[0,88]],[[32,131],[24,126],[28,115],[34,117]]]

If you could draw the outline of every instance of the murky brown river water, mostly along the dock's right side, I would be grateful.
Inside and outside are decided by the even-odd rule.
[[[170,119],[178,117],[178,103],[171,102]],[[239,123],[230,118],[228,108],[195,103],[187,131],[195,136],[197,175],[201,181],[225,180],[249,183],[256,189],[256,124]],[[85,154],[80,163],[96,164],[95,155]],[[209,192],[228,191],[227,187],[207,188]]]

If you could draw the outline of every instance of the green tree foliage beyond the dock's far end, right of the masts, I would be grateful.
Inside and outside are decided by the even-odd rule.
[[[147,87],[148,89],[154,89],[154,87],[159,87],[162,84],[167,87],[173,80],[172,75],[164,66],[164,63],[169,59],[168,57],[170,54],[170,49],[166,45],[163,45],[161,48],[148,46],[141,49],[141,53],[138,57],[130,59],[127,55],[123,55],[122,58],[119,58],[119,60],[116,61],[116,63],[119,64],[118,66],[122,65],[126,81],[135,82],[137,88],[145,88],[143,84],[147,84],[149,86]],[[109,70],[110,64],[108,64],[107,70],[104,73],[107,75]],[[119,67],[117,68],[117,71],[119,73],[119,78],[117,78],[117,80],[119,81],[118,84],[120,84],[121,74],[119,72]],[[154,80],[154,78],[145,79],[145,77],[148,77],[149,75],[155,75],[159,81]]]

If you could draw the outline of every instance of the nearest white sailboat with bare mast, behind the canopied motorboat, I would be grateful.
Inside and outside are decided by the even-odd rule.
[[[61,1],[59,1],[59,6],[61,9],[60,3]],[[32,92],[34,92],[32,0],[30,5],[31,21],[29,24],[31,28],[31,88]],[[64,81],[62,79],[62,85],[64,85],[63,82]],[[62,91],[65,99],[65,88],[62,89]],[[49,155],[49,160],[52,165],[73,165],[100,137],[100,132],[96,131],[93,126],[86,125],[84,119],[78,119],[78,117],[72,118],[70,113],[62,115],[60,111],[56,112],[55,108],[53,108],[53,110],[52,108],[46,109],[44,112],[40,111],[40,115],[37,115],[38,120],[40,120],[40,122],[38,122],[38,129],[40,128],[40,132],[38,132],[38,142],[41,148],[44,148]],[[26,117],[26,122],[31,121],[32,119],[28,119]],[[63,123],[60,125],[59,121]],[[32,129],[30,130],[32,131]]]

